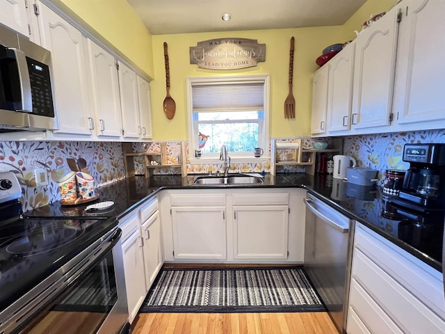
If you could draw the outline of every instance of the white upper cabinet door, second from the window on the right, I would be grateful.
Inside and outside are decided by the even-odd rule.
[[[327,131],[339,132],[350,129],[350,113],[353,103],[355,43],[347,45],[329,63],[327,89]]]

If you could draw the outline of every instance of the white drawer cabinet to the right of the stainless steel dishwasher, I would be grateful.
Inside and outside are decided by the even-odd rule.
[[[445,333],[442,273],[357,224],[346,331]]]

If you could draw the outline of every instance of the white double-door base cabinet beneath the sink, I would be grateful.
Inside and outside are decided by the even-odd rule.
[[[165,261],[302,263],[304,196],[304,189],[163,191]]]

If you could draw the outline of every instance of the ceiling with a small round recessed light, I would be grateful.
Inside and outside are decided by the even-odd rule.
[[[339,25],[366,0],[127,0],[152,35]],[[223,13],[232,19],[224,22]]]

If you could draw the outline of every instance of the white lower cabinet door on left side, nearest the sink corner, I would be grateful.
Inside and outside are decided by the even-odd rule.
[[[156,210],[140,228],[144,238],[145,287],[148,291],[163,264],[159,211]]]

